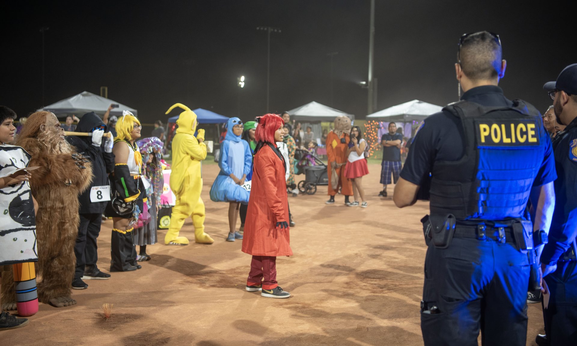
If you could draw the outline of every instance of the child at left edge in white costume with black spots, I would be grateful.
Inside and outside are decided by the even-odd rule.
[[[36,200],[28,184],[31,174],[28,167],[30,155],[12,142],[16,127],[16,113],[0,106],[0,277],[3,265],[38,261],[36,252]],[[15,172],[16,171],[16,172]],[[7,271],[4,275],[13,280]],[[1,303],[1,302],[0,302]],[[20,328],[28,324],[27,318],[16,318],[0,310],[0,330]]]

